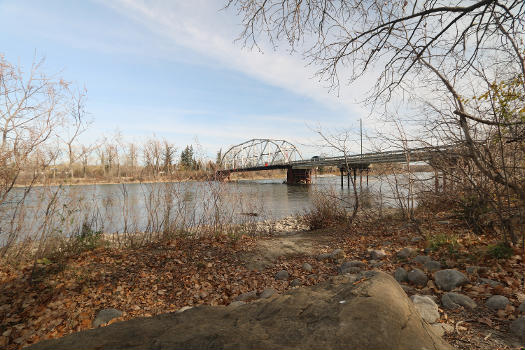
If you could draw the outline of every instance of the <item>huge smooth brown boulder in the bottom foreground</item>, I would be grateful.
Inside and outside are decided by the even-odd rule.
[[[389,275],[338,276],[230,307],[115,323],[29,349],[452,349]]]

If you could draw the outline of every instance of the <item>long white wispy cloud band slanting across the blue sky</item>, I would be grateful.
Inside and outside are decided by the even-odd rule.
[[[362,86],[343,88],[336,96],[314,78],[316,68],[307,66],[300,57],[271,48],[249,50],[235,42],[240,32],[238,18],[231,11],[221,11],[220,2],[120,0],[104,4],[174,45],[210,57],[216,64],[306,96],[331,110],[355,116],[361,113],[355,99],[362,97]]]

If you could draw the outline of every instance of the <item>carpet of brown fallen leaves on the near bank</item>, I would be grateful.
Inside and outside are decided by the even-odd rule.
[[[329,233],[333,235],[333,240],[329,245],[319,247],[319,253],[341,248],[347,260],[369,264],[368,249],[382,248],[387,255],[381,260],[379,268],[391,273],[401,265],[413,266],[410,261],[399,261],[395,257],[397,250],[406,246],[424,248],[424,242],[409,243],[411,233],[402,226],[371,224],[360,226],[355,232]],[[391,244],[384,245],[386,240]],[[31,265],[13,267],[0,264],[0,324],[3,325],[0,348],[17,349],[46,338],[89,329],[97,311],[104,308],[112,307],[124,312],[111,324],[174,312],[184,306],[227,305],[237,295],[253,290],[274,288],[283,292],[290,288],[289,281],[276,281],[274,278],[275,273],[282,269],[289,272],[290,281],[300,279],[303,285],[312,285],[337,274],[336,265],[332,262],[308,256],[281,258],[272,268],[262,272],[249,271],[239,256],[252,249],[255,241],[245,236],[233,245],[222,237],[178,238],[137,249],[96,250],[67,261],[61,271],[48,273],[36,283],[31,283],[28,278]],[[432,252],[431,255],[435,260],[464,269],[467,263],[481,264],[468,260],[468,254],[476,244],[484,242],[479,237],[463,239],[464,246],[460,247],[463,252],[460,251],[457,256],[448,256],[446,252]],[[303,270],[305,262],[313,267],[313,272]],[[520,255],[497,264],[490,261],[483,264],[488,269],[479,272],[479,276],[502,285],[478,284],[473,278],[462,287],[461,293],[475,299],[478,305],[483,305],[486,298],[493,294],[505,295],[514,304],[525,299],[519,275],[516,276],[516,271],[523,271]],[[44,265],[43,271],[54,265]],[[358,280],[355,284],[362,281]],[[437,296],[442,294],[432,280],[428,281],[425,292]],[[451,310],[451,315],[443,313],[443,319],[453,323],[449,316],[458,320],[465,312]],[[505,310],[478,314],[474,319],[478,327],[500,328],[514,314],[514,306],[509,305]],[[468,326],[461,322],[456,323],[460,336],[466,336],[476,326],[476,322]]]

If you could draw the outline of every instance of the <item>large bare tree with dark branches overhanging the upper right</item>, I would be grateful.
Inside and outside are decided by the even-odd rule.
[[[379,71],[366,102],[385,116],[401,102],[419,126],[400,138],[457,144],[454,154],[444,156],[462,158],[493,191],[507,193],[502,205],[510,206],[515,197],[523,207],[523,164],[512,153],[523,155],[525,149],[525,3],[230,0],[227,5],[243,18],[246,45],[260,48],[261,36],[274,46],[285,42],[317,65],[331,88]]]

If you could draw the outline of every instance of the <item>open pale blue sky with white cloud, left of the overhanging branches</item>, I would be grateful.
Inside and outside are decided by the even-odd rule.
[[[369,82],[330,92],[316,67],[285,48],[243,47],[241,19],[224,3],[0,0],[0,54],[27,68],[45,58],[45,72],[87,89],[84,143],[116,131],[137,142],[155,135],[179,150],[198,142],[213,158],[271,138],[308,157],[329,153],[318,147],[319,127],[351,129],[357,140]]]

